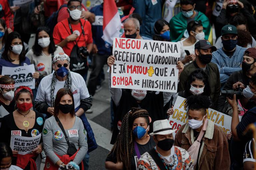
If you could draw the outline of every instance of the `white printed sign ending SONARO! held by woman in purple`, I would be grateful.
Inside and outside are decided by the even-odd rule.
[[[35,72],[34,64],[24,65],[19,67],[5,67],[2,68],[2,75],[7,75],[15,81],[15,87],[28,86],[31,89],[35,88],[35,79],[33,73]]]

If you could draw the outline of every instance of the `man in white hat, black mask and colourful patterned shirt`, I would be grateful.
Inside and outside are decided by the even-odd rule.
[[[173,146],[175,131],[167,119],[153,123],[153,132],[150,135],[153,136],[156,146],[140,157],[137,170],[194,169],[188,152]]]

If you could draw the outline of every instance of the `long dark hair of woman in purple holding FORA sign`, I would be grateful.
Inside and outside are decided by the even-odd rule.
[[[16,31],[14,32],[11,32],[8,37],[7,37],[7,41],[5,43],[5,47],[4,47],[4,52],[2,54],[2,58],[5,59],[6,61],[9,61],[9,62],[13,62],[14,60],[11,59],[11,54],[10,54],[10,47],[11,47],[11,44],[12,44],[12,41],[13,39],[21,39],[21,36],[19,33],[17,33]],[[24,42],[22,41],[22,51],[19,55],[19,59],[20,59],[20,62],[24,61],[25,60],[25,57],[26,57],[26,52],[25,52],[25,47],[24,47]]]

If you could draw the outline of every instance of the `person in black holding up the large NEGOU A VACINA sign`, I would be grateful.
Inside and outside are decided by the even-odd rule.
[[[152,126],[154,121],[162,120],[166,118],[166,112],[164,112],[164,106],[170,101],[173,93],[171,92],[155,92],[147,90],[136,89],[120,89],[111,88],[111,65],[115,63],[115,57],[113,55],[108,57],[107,64],[110,67],[108,80],[109,90],[113,99],[113,104],[116,106],[113,123],[113,133],[111,138],[111,144],[114,144],[116,137],[119,133],[125,114],[133,107],[146,109],[149,116],[152,119]],[[179,69],[178,77],[184,69],[184,65],[181,61],[177,62],[176,68]],[[152,132],[152,129],[149,129]]]

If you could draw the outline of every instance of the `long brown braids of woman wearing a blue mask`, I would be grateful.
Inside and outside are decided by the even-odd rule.
[[[123,162],[123,169],[131,170],[131,158],[134,152],[132,133],[133,122],[136,118],[144,117],[149,125],[149,114],[145,109],[132,108],[123,118],[122,125],[117,136],[116,142],[112,147],[109,155],[116,152],[117,162]]]

